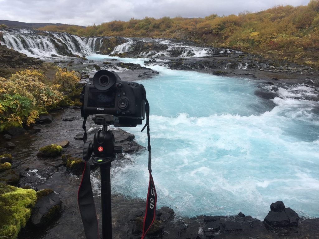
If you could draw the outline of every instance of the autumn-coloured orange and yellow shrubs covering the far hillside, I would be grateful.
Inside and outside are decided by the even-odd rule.
[[[145,17],[86,28],[46,26],[80,36],[156,37],[239,49],[319,68],[319,0],[307,6],[276,6],[257,13],[205,18]]]

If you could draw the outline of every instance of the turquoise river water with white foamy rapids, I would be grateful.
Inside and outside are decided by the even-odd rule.
[[[88,57],[105,58],[111,57]],[[300,216],[319,216],[319,102],[308,100],[317,89],[281,85],[278,97],[265,100],[254,94],[261,87],[254,80],[151,68],[159,75],[139,83],[151,107],[158,206],[181,216],[242,212],[263,219],[282,200]],[[124,129],[146,146],[141,128]],[[112,190],[145,198],[147,152],[126,157],[111,170]]]

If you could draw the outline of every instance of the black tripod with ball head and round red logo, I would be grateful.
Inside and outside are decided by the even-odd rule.
[[[98,115],[97,114],[95,115],[93,120],[95,124],[102,125],[102,130],[99,130],[94,134],[93,143],[92,142],[85,143],[83,148],[83,159],[85,161],[89,160],[93,152],[94,154],[92,156],[92,162],[95,165],[100,167],[102,238],[112,239],[110,169],[111,169],[111,162],[116,159],[117,154],[121,154],[123,152],[123,148],[122,146],[115,146],[114,134],[111,131],[108,131],[109,125],[118,123],[118,117],[115,117],[113,115]],[[91,188],[91,193],[92,193],[92,188]],[[93,194],[92,194],[92,200],[93,200]]]

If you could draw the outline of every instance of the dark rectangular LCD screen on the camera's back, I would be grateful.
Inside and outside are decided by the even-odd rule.
[[[115,91],[100,91],[96,88],[90,88],[87,99],[87,106],[100,108],[114,108]]]

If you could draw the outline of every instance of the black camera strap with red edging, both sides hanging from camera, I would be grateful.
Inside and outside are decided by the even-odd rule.
[[[142,238],[145,238],[147,231],[151,228],[152,223],[155,219],[155,210],[156,210],[156,201],[157,201],[157,194],[155,190],[155,185],[152,177],[152,152],[151,152],[151,143],[150,143],[150,105],[146,99],[146,91],[143,85],[141,85],[143,90],[143,99],[145,101],[145,113],[146,113],[146,124],[141,130],[141,132],[147,129],[147,150],[148,150],[148,171],[150,174],[149,177],[149,185],[148,185],[148,192],[147,192],[147,199],[146,199],[146,210],[143,222],[143,231],[142,231]],[[83,90],[84,91],[84,90]],[[83,92],[82,91],[82,92]],[[84,94],[84,92],[83,92]],[[83,106],[81,108],[81,115],[84,118],[83,120],[83,129],[85,131],[83,135],[83,141],[86,143],[87,140],[87,133],[85,123],[87,120],[88,115],[85,115],[83,111]],[[89,144],[87,142],[86,144]],[[84,147],[90,148],[90,147]],[[99,239],[99,223],[97,220],[95,204],[93,199],[93,192],[92,192],[92,185],[90,180],[90,163],[88,162],[91,158],[92,151],[83,151],[83,159],[85,160],[85,167],[82,174],[81,184],[78,189],[78,206],[81,214],[81,218],[83,221],[85,236],[87,239]]]

